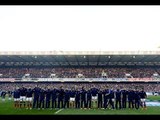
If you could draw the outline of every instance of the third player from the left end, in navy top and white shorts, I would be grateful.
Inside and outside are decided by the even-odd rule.
[[[29,87],[26,91],[26,102],[27,102],[27,109],[32,109],[32,95],[33,95],[33,90],[31,87]]]

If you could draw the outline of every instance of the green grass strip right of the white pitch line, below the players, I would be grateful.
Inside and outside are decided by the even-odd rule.
[[[109,109],[64,109],[59,115],[160,115],[160,107],[148,107],[147,110],[109,110]]]

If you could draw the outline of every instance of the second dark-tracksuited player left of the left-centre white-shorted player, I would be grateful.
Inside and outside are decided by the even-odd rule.
[[[61,86],[58,90],[58,108],[64,108],[64,89]]]

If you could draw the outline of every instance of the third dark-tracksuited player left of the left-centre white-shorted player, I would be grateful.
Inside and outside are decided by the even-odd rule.
[[[51,97],[52,97],[52,109],[53,108],[57,108],[57,94],[58,94],[58,90],[56,88],[54,88],[51,91]]]

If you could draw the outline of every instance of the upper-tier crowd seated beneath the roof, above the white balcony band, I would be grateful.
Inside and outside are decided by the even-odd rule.
[[[150,78],[154,73],[160,74],[160,69],[155,68],[0,68],[1,78],[22,78],[30,74],[31,78],[49,78],[56,74],[58,78],[76,78],[83,74],[85,78],[101,78],[102,72],[108,78],[124,78],[130,74],[133,78]]]

